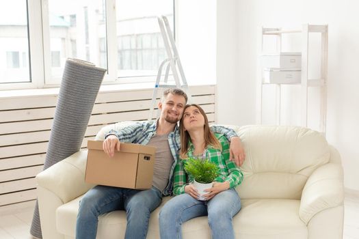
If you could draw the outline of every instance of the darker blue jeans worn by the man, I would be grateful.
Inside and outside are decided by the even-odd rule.
[[[95,239],[98,216],[115,210],[127,212],[124,238],[146,238],[150,213],[162,201],[161,192],[152,186],[148,190],[95,186],[81,199],[77,214],[76,238]]]

